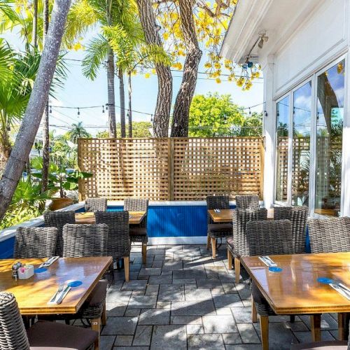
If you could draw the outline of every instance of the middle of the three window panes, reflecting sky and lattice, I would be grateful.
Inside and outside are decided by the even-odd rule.
[[[311,81],[293,94],[292,205],[309,205]]]

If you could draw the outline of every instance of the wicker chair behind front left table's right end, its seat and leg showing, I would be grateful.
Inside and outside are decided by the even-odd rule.
[[[64,258],[80,258],[83,256],[106,256],[109,241],[108,225],[70,225],[63,228]],[[107,281],[101,280],[92,290],[89,299],[80,307],[77,314],[70,318],[85,318],[91,323],[93,330],[101,329],[106,324]],[[66,319],[66,317],[64,317]]]

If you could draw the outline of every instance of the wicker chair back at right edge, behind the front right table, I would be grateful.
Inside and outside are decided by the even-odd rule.
[[[350,251],[350,218],[310,219],[311,253]]]

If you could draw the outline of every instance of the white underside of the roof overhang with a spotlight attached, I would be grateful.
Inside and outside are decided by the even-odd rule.
[[[327,0],[239,0],[221,47],[221,56],[252,62],[275,55],[313,11]],[[263,48],[254,45],[261,34],[269,37]]]

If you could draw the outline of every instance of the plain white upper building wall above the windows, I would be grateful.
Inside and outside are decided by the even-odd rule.
[[[349,50],[349,0],[328,0],[275,52],[274,98]]]

